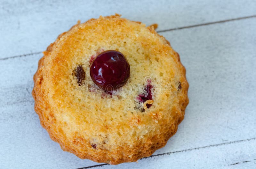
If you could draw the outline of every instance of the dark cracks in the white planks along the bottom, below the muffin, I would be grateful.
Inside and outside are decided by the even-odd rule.
[[[200,150],[200,149],[205,149],[205,148],[210,148],[210,147],[218,147],[218,146],[228,145],[228,144],[248,142],[248,141],[251,141],[251,140],[256,140],[256,137],[249,138],[249,139],[244,139],[244,140],[231,141],[231,142],[226,142],[226,143],[212,144],[212,145],[207,145],[207,146],[203,146],[203,147],[196,147],[196,148],[185,149],[185,150],[180,150],[180,151],[172,151],[172,152],[167,152],[167,153],[162,153],[162,154],[156,154],[156,155],[152,155],[152,156],[149,156],[149,157],[144,157],[144,158],[141,158],[141,159],[152,158],[152,157],[156,157],[156,156],[164,156],[164,155],[169,155],[169,154],[174,154],[174,153],[182,153],[182,152],[193,151],[193,150]],[[245,163],[245,162],[251,162],[251,161],[243,161],[241,163]],[[236,165],[236,164],[239,164],[239,162],[231,164],[231,165]],[[77,169],[95,168],[95,167],[100,167],[100,166],[103,166],[103,165],[109,165],[109,164],[92,165],[92,166],[87,166],[87,167],[82,167],[82,168],[77,168]]]

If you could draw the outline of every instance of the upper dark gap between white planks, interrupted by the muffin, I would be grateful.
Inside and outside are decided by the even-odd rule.
[[[157,31],[157,33],[168,32],[168,31],[175,31],[175,30],[180,30],[180,29],[188,29],[188,28],[199,27],[199,26],[207,26],[207,25],[225,23],[225,22],[230,22],[230,21],[235,21],[235,20],[242,20],[242,19],[248,19],[248,18],[256,18],[256,15],[240,17],[240,18],[233,18],[233,19],[226,19],[226,20],[220,20],[220,21],[215,21],[215,22],[207,22],[207,23],[204,23],[204,24],[183,26],[183,27],[177,27],[177,28],[172,28],[172,29],[165,29],[165,30]],[[25,56],[36,55],[36,54],[40,54],[40,53],[42,53],[42,52],[34,52],[34,53],[29,53],[29,54],[4,57],[4,58],[0,58],[0,60],[13,59],[13,58],[17,58],[17,57],[25,57]]]

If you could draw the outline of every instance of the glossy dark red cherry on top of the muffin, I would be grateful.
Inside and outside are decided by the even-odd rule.
[[[97,86],[112,92],[126,84],[130,77],[130,65],[121,52],[106,50],[92,61],[90,75]]]

